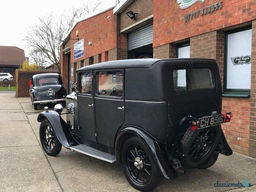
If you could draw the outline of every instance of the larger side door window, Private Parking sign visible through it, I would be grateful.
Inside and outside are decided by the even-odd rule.
[[[122,97],[123,74],[120,71],[102,71],[97,73],[98,95]]]

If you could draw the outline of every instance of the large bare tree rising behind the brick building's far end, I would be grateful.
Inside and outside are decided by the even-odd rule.
[[[39,65],[48,62],[60,70],[61,41],[71,29],[75,20],[89,12],[95,11],[102,3],[102,0],[97,0],[94,3],[92,3],[92,1],[93,0],[90,0],[83,8],[64,12],[64,14],[60,15],[57,19],[54,18],[52,14],[38,18],[38,24],[35,24],[31,32],[24,37],[24,41],[32,48],[30,55],[33,55],[32,59],[34,62],[37,63],[38,61]],[[41,60],[38,60],[38,56]],[[43,58],[46,58],[47,61]]]

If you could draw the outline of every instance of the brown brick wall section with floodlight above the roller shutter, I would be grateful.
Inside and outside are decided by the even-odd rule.
[[[132,10],[138,13],[136,20],[131,20],[126,12]],[[145,19],[153,14],[153,0],[134,0],[122,13],[120,13],[120,30]]]

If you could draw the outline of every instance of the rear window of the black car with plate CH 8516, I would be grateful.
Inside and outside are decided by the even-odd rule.
[[[179,69],[173,71],[175,90],[193,90],[212,88],[212,74],[208,68]]]

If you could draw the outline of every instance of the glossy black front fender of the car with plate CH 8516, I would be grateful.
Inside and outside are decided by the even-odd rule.
[[[44,119],[47,119],[50,122],[56,137],[65,148],[78,145],[70,133],[72,130],[57,112],[44,111],[37,117],[38,122],[42,122]]]

